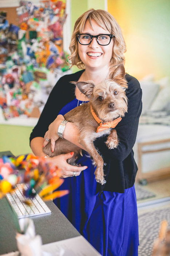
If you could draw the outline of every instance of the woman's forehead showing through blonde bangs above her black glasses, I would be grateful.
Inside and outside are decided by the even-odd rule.
[[[81,33],[89,33],[89,34],[110,34],[110,32],[107,30],[107,28],[101,27],[98,25],[98,23],[92,19],[91,24],[87,20],[84,26],[84,29],[81,31]]]

